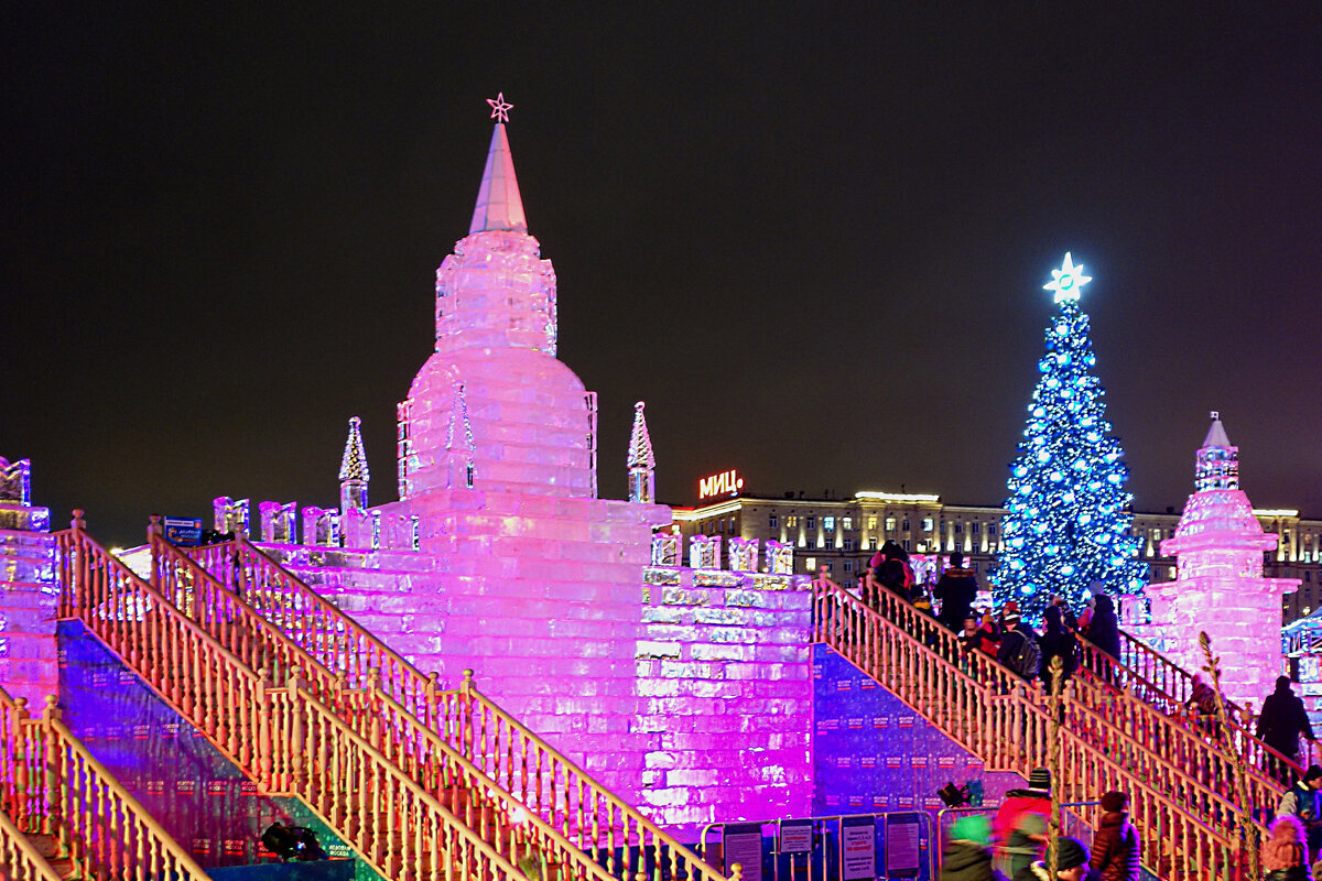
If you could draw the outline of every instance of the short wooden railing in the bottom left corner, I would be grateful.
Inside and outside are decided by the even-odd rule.
[[[205,881],[193,857],[59,721],[54,696],[32,719],[22,697],[0,689],[0,815],[20,833],[50,836],[77,877]]]

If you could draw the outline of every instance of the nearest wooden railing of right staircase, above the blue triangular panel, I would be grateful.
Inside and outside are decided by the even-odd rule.
[[[894,594],[879,598],[878,614],[825,576],[813,590],[814,641],[980,756],[989,770],[1027,777],[1047,763],[1051,725],[1040,689],[985,654],[960,652],[953,633]],[[1062,767],[1069,769],[1058,786],[1069,798],[1129,793],[1145,863],[1161,877],[1240,877],[1239,815],[1224,795],[1068,696],[1058,740]],[[1256,824],[1245,831],[1264,832]]]

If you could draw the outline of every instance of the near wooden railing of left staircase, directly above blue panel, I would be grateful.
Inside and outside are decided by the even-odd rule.
[[[386,877],[438,878],[446,870],[442,863],[459,868],[463,877],[522,877],[419,783],[370,745],[365,749],[364,738],[336,734],[307,745],[304,732],[344,726],[307,689],[308,699],[282,701],[280,689],[270,687],[264,675],[81,528],[56,535],[61,614],[79,618],[266,791],[315,798],[309,807],[329,811],[321,819]],[[295,697],[297,682],[297,672],[291,671],[287,688],[293,688]],[[480,806],[471,804],[471,810]],[[530,848],[518,828],[509,829],[501,844],[516,859]],[[574,869],[570,877],[590,877],[582,865],[567,868]]]

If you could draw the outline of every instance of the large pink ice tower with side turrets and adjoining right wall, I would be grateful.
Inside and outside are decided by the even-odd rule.
[[[398,408],[399,501],[366,509],[353,424],[341,515],[346,546],[368,551],[304,576],[444,686],[475,670],[666,823],[806,810],[806,579],[648,581],[672,512],[654,503],[642,405],[629,501],[598,498],[596,395],[557,359],[555,271],[527,232],[504,122],[435,293],[435,351]],[[379,538],[353,540],[360,520]]]

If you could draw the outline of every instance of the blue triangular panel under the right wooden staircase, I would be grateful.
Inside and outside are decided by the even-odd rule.
[[[813,646],[814,816],[940,810],[936,790],[982,781],[985,804],[1026,782],[982,759],[824,645]]]

